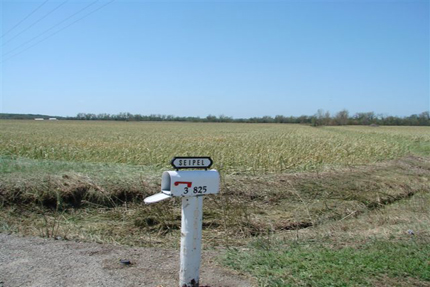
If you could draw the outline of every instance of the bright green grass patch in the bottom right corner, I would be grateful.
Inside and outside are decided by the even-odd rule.
[[[260,286],[374,286],[384,277],[424,286],[430,284],[429,258],[430,245],[413,240],[375,240],[340,249],[258,240],[247,250],[230,249],[223,261],[258,278]]]

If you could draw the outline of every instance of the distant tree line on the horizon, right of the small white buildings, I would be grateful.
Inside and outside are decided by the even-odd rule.
[[[295,123],[310,124],[312,126],[340,126],[340,125],[391,125],[391,126],[430,126],[429,112],[413,114],[407,117],[376,115],[374,112],[356,113],[350,115],[347,110],[331,115],[330,112],[318,110],[312,116],[299,117],[277,115],[275,117],[252,117],[234,119],[225,115],[207,117],[178,117],[173,115],[140,115],[131,113],[119,114],[90,114],[79,113],[70,120],[99,120],[99,121],[170,121],[170,122],[213,122],[213,123]]]

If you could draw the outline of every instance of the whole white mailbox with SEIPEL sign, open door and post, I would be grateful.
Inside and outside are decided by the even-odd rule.
[[[218,171],[208,168],[209,157],[175,157],[171,164],[176,171],[165,171],[161,179],[161,193],[145,198],[155,203],[172,196],[182,197],[180,287],[198,287],[201,260],[203,196],[219,192]],[[205,170],[187,170],[197,169]]]

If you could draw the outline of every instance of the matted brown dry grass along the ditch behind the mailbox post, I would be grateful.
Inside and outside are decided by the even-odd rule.
[[[226,176],[221,194],[205,199],[205,238],[215,245],[239,243],[257,235],[356,218],[429,192],[429,178],[430,161],[412,156],[319,173]],[[43,224],[52,226],[60,221],[57,229],[64,233],[56,235],[63,237],[92,241],[96,233],[96,241],[133,245],[144,234],[146,239],[138,245],[163,243],[165,236],[179,232],[180,201],[144,205],[144,197],[158,192],[157,182],[147,180],[138,178],[118,186],[115,182],[98,183],[82,175],[65,174],[21,179],[19,185],[3,182],[3,225],[26,234],[44,234],[40,231]],[[29,215],[31,210],[42,213],[45,219],[40,221]],[[37,228],[33,220],[40,221]],[[93,229],[85,235],[80,230],[82,226]],[[121,233],[127,233],[128,239],[119,239]]]

